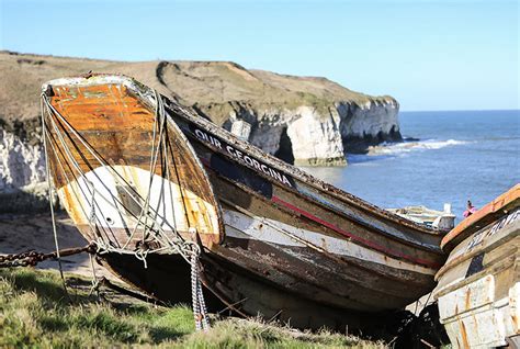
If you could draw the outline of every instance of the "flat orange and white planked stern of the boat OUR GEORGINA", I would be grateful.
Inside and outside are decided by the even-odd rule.
[[[50,83],[46,93],[56,110],[45,119],[54,182],[83,235],[132,250],[145,240],[131,235],[140,229],[135,227],[148,200],[156,215],[150,227],[185,237],[195,228],[207,246],[222,239],[219,209],[205,172],[173,123],[167,121],[161,133],[152,100],[125,85],[89,81]],[[97,229],[89,224],[92,211]]]

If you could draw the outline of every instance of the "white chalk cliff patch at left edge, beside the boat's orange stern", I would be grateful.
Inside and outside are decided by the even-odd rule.
[[[0,128],[0,192],[10,192],[45,181],[45,156],[41,145],[23,143]]]

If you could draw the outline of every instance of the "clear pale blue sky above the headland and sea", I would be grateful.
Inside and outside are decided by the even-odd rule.
[[[0,0],[1,48],[233,60],[391,94],[402,110],[519,109],[519,2]]]

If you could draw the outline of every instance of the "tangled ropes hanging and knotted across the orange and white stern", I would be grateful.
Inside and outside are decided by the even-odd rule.
[[[65,132],[67,128],[72,135],[78,138],[78,140],[84,146],[87,151],[92,155],[95,161],[99,162],[100,166],[106,168],[113,176],[114,179],[121,180],[122,182],[128,184],[126,182],[126,179],[121,176],[111,165],[106,164],[101,156],[99,156],[93,149],[88,142],[83,139],[81,134],[79,134],[72,126],[71,124],[50,104],[50,101],[48,100],[47,95],[45,93],[42,93],[42,123],[43,123],[43,128],[44,128],[44,149],[45,149],[45,155],[46,155],[46,160],[47,160],[47,180],[49,182],[49,191],[54,189],[50,183],[50,170],[49,170],[49,162],[48,162],[48,149],[46,145],[46,139],[53,139],[53,137],[49,134],[49,131],[46,127],[45,124],[45,116],[44,116],[44,106],[47,112],[47,115],[49,116],[50,124],[57,135],[57,144],[60,146],[64,150],[64,153],[60,151],[60,154],[64,157],[64,160],[66,161],[67,165],[72,165],[74,170],[78,173],[78,176],[75,174],[75,171],[72,168],[69,169],[71,170],[72,176],[75,177],[78,188],[81,191],[82,195],[87,198],[86,192],[83,191],[82,185],[80,184],[80,179],[83,180],[88,188],[88,192],[90,193],[91,201],[90,201],[90,212],[87,215],[88,216],[88,223],[90,226],[90,229],[92,230],[92,236],[94,236],[94,244],[95,244],[95,252],[99,255],[103,254],[109,254],[109,252],[115,252],[115,254],[125,254],[125,255],[134,255],[136,259],[143,261],[145,269],[147,268],[147,256],[149,254],[158,254],[158,252],[174,252],[179,254],[183,257],[183,259],[190,263],[191,266],[191,281],[192,281],[192,303],[193,303],[193,314],[195,318],[195,328],[197,330],[207,330],[210,328],[210,320],[207,316],[207,309],[206,305],[204,302],[204,295],[202,291],[202,281],[201,281],[201,275],[200,275],[200,255],[201,255],[201,247],[199,246],[199,243],[196,240],[196,230],[194,228],[189,227],[189,232],[193,233],[195,239],[194,240],[185,240],[182,238],[182,236],[179,234],[177,230],[177,223],[173,222],[173,227],[168,224],[168,226],[171,228],[171,230],[174,233],[173,238],[165,232],[162,228],[162,224],[157,223],[157,218],[159,217],[159,212],[158,210],[154,210],[150,207],[150,195],[151,195],[151,187],[155,178],[155,169],[157,167],[157,161],[159,158],[159,154],[163,156],[163,161],[161,160],[161,168],[162,168],[162,174],[166,173],[166,179],[168,180],[169,183],[169,191],[170,191],[170,196],[171,196],[171,205],[172,205],[172,211],[173,211],[173,221],[176,221],[174,217],[174,202],[173,202],[173,195],[172,195],[172,189],[171,189],[171,181],[170,181],[170,167],[169,167],[169,159],[170,157],[168,156],[168,147],[167,144],[169,143],[168,138],[168,127],[167,127],[167,113],[165,111],[165,105],[163,101],[160,97],[160,94],[154,90],[155,92],[155,99],[156,99],[156,109],[155,109],[155,120],[154,120],[154,130],[152,130],[152,143],[151,143],[151,151],[150,151],[150,164],[149,164],[149,180],[148,180],[148,187],[147,187],[147,193],[146,198],[143,198],[137,193],[135,190],[134,192],[131,192],[128,190],[129,185],[122,185],[123,190],[132,198],[132,200],[135,201],[135,203],[140,205],[140,212],[138,216],[136,216],[134,213],[131,212],[128,207],[126,207],[123,202],[118,198],[116,198],[110,189],[101,181],[99,178],[98,173],[93,172],[93,176],[100,181],[100,183],[104,187],[106,192],[110,193],[110,198],[106,198],[102,192],[100,192],[94,183],[90,181],[87,178],[87,173],[82,170],[81,166],[78,164],[77,159],[74,157],[72,151],[70,150],[67,142],[65,140],[61,131],[59,128],[63,128]],[[59,121],[60,126],[58,127],[57,122]],[[69,140],[71,140],[71,137],[69,136]],[[56,142],[56,139],[55,139]],[[53,151],[56,155],[56,160],[59,165],[60,170],[64,172],[64,176],[67,179],[67,182],[71,182],[67,176],[67,172],[65,171],[64,165],[61,164],[60,157],[58,156],[58,151],[55,148],[54,144],[50,142],[50,146],[53,148]],[[161,151],[162,149],[162,151]],[[87,161],[84,158],[83,154],[79,151],[79,149],[76,146],[76,151],[79,153],[79,155],[83,158],[83,160]],[[170,151],[173,153],[173,149],[171,148],[170,144]],[[183,203],[183,209],[185,213],[185,218],[188,225],[190,225],[189,216],[188,216],[188,207],[185,203],[185,198],[183,194],[183,188],[181,185],[181,179],[177,169],[177,161],[174,156],[172,156],[172,165],[176,171],[176,177],[179,183],[179,191],[181,195],[181,201]],[[92,173],[92,172],[91,172]],[[78,193],[76,190],[74,190],[74,194],[77,199],[78,202],[81,202],[79,200]],[[161,192],[161,194],[163,194]],[[116,209],[118,212],[121,212],[121,207],[125,210],[129,215],[132,215],[136,219],[136,224],[132,230],[132,233],[128,236],[128,239],[126,240],[123,246],[121,246],[116,239],[115,236],[113,235],[112,230],[110,229],[110,225],[106,223],[106,218],[104,217],[102,210],[95,210],[95,206],[99,207],[99,204],[94,198],[101,198],[105,203],[108,203],[110,206]],[[112,202],[113,203],[112,203]],[[160,198],[159,198],[160,202]],[[114,204],[115,203],[115,204]],[[84,212],[83,207],[81,210]],[[99,212],[99,214],[98,214]],[[55,243],[56,243],[56,248],[58,252],[58,245],[57,245],[57,232],[56,232],[56,226],[55,226],[55,216],[54,216],[54,209],[52,207],[52,218],[53,218],[53,227],[54,227],[54,235],[55,235]],[[167,222],[163,219],[163,222]],[[98,225],[99,223],[99,225]],[[104,223],[104,224],[103,224]],[[114,239],[112,240],[106,232],[104,233],[105,237],[102,237],[101,234],[98,232],[98,227],[101,227],[103,232],[105,232],[105,227],[109,227],[109,230],[112,233],[112,236]],[[135,250],[129,250],[128,246],[129,244],[134,240],[135,235],[137,234],[137,230],[142,227],[142,243],[143,245]],[[151,249],[148,246],[146,246],[145,240],[151,238],[152,240],[156,240],[159,243],[159,248]],[[120,246],[116,246],[120,245]],[[59,254],[58,254],[59,258]],[[99,286],[99,280],[95,275],[95,270],[93,269],[93,261],[91,259],[91,267],[92,267],[92,273],[93,273],[93,281],[92,281],[92,290],[97,289]],[[60,272],[61,272],[61,266],[60,266]],[[63,272],[61,272],[63,273]],[[65,279],[64,279],[64,285],[65,285]]]

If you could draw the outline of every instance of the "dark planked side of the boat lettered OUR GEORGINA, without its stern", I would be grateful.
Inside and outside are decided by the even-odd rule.
[[[171,114],[208,171],[223,207],[224,243],[212,249],[222,259],[343,314],[403,308],[433,289],[433,274],[444,260],[441,235],[371,215],[372,207],[316,190],[239,140],[228,142],[213,127]],[[225,285],[216,288],[227,303],[241,300]],[[246,313],[258,309],[255,304]]]

